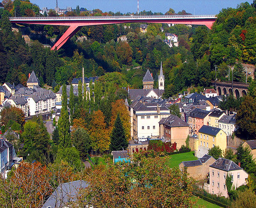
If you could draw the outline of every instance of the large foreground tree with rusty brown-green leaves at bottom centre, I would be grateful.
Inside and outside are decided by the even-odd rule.
[[[166,166],[152,152],[134,154],[130,164],[96,166],[86,176],[88,188],[78,193],[74,206],[84,207],[190,207],[192,178]],[[170,194],[171,193],[171,194]]]

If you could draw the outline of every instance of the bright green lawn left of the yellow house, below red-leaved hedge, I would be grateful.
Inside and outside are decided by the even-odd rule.
[[[182,161],[190,161],[197,160],[197,158],[193,154],[194,152],[186,152],[180,154],[173,154],[168,156],[170,159],[168,160],[168,166],[170,168],[178,167]]]

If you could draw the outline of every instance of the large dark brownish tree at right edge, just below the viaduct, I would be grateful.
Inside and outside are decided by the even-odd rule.
[[[236,114],[237,133],[242,138],[256,138],[256,102],[246,96]]]

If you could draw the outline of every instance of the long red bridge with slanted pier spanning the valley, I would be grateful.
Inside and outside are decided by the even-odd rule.
[[[12,23],[70,26],[54,44],[59,50],[80,28],[90,25],[122,24],[132,22],[205,25],[209,29],[216,15],[161,15],[161,16],[75,16],[75,17],[10,17]]]

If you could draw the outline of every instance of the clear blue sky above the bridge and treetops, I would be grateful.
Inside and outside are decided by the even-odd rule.
[[[250,4],[253,0],[248,0]],[[56,0],[30,0],[40,8],[55,8]],[[165,13],[169,8],[175,12],[186,10],[191,14],[218,14],[222,8],[236,8],[245,0],[139,0],[140,10]],[[103,12],[120,11],[122,13],[136,12],[137,0],[58,0],[59,8],[76,5],[87,9],[100,9]]]

